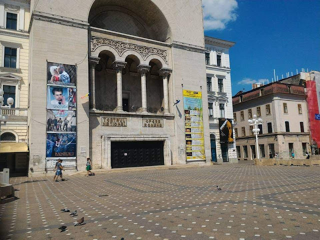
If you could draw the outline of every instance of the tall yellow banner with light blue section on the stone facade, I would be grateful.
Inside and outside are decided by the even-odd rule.
[[[183,90],[186,160],[205,160],[202,94]]]

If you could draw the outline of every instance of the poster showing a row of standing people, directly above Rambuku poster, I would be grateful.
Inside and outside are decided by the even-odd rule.
[[[46,110],[46,131],[47,132],[61,132],[61,131],[76,132],[75,111],[47,109]]]

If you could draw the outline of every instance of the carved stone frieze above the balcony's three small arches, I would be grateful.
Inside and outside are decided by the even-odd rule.
[[[165,63],[168,63],[168,52],[165,49],[155,48],[155,47],[149,47],[144,46],[140,44],[125,42],[125,41],[119,41],[109,38],[104,38],[100,36],[92,36],[91,38],[91,51],[94,51],[98,46],[101,45],[107,45],[113,47],[118,53],[119,56],[123,54],[126,50],[134,50],[143,57],[145,60],[149,55],[156,54],[163,58]]]

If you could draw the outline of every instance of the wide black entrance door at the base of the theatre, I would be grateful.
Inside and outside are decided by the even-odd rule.
[[[163,141],[112,141],[111,168],[164,165]]]

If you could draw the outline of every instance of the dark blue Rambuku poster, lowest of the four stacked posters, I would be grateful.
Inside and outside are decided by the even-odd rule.
[[[46,133],[46,157],[75,157],[75,133]]]

